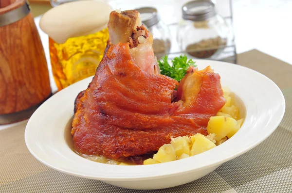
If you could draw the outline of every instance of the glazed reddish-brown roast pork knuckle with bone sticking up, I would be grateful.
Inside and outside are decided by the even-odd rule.
[[[171,137],[207,135],[209,118],[225,104],[210,67],[189,67],[180,83],[161,75],[152,35],[139,21],[134,10],[110,14],[104,57],[74,104],[71,133],[80,154],[122,161],[157,151]]]

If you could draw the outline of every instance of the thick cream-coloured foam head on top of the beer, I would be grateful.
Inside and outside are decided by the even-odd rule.
[[[47,11],[39,26],[55,42],[98,32],[107,27],[112,7],[102,0],[80,0],[58,5]]]

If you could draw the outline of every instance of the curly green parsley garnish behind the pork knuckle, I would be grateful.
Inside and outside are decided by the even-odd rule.
[[[172,66],[169,65],[167,58],[167,56],[164,56],[162,57],[162,61],[158,61],[160,73],[178,81],[183,79],[190,65],[197,66],[194,65],[195,62],[192,59],[187,60],[186,55],[175,57],[171,60]]]

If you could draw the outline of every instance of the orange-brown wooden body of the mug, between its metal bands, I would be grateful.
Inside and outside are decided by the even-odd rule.
[[[45,53],[32,14],[0,27],[0,114],[28,109],[50,94]]]

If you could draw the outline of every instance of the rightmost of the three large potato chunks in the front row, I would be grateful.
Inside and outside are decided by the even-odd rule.
[[[194,140],[194,144],[191,149],[191,156],[200,154],[202,152],[205,152],[209,149],[216,147],[216,145],[212,141],[208,140],[202,134],[196,134],[192,136],[192,138]]]

